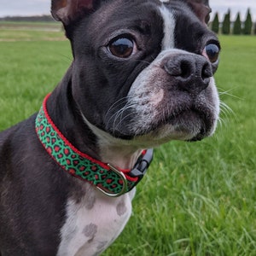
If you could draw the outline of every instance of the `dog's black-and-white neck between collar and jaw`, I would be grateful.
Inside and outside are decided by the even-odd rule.
[[[114,138],[86,120],[73,100],[71,69],[49,96],[49,116],[62,134],[84,154],[121,169],[131,169],[143,148]]]

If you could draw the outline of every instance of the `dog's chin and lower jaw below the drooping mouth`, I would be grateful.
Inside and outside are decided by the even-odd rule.
[[[151,123],[137,120],[121,125],[122,129],[116,127],[115,130],[110,129],[107,132],[122,140],[142,143],[144,147],[154,147],[172,140],[201,141],[212,136],[216,123],[217,119],[189,110],[164,120],[154,119]]]

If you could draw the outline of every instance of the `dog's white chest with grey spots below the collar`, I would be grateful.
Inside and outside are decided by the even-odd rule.
[[[131,194],[108,198],[96,191],[84,196],[82,201],[67,201],[67,218],[61,228],[57,256],[102,253],[119,236],[130,218],[131,199]]]

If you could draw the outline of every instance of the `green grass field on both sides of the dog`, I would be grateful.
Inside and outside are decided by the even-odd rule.
[[[61,32],[0,31],[0,131],[38,110],[72,61]],[[103,256],[256,255],[256,37],[221,37],[216,134],[155,150]]]

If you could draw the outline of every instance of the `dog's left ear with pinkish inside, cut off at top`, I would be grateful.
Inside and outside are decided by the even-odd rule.
[[[51,14],[55,20],[61,20],[64,26],[73,20],[78,20],[81,15],[93,12],[99,0],[52,0]]]

